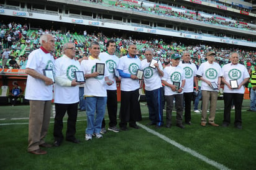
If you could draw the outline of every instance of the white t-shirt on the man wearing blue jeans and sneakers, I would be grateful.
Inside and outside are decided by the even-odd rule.
[[[104,63],[103,60],[95,59],[89,56],[88,60],[81,62],[81,71],[84,74],[95,72],[96,63]],[[109,71],[105,66],[104,76],[96,76],[95,78],[87,78],[85,80],[85,96],[107,97],[105,77],[109,76]]]

